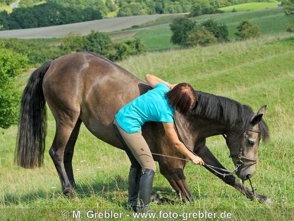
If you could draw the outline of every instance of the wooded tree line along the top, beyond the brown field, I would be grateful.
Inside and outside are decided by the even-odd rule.
[[[21,0],[12,13],[0,12],[1,30],[37,28],[102,19],[116,11],[118,17],[190,13],[190,17],[221,13],[221,7],[232,5],[233,0]],[[235,4],[269,0],[234,0]],[[9,0],[0,0],[10,4]]]

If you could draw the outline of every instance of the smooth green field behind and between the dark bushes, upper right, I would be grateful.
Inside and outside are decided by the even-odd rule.
[[[288,23],[288,18],[284,14],[282,7],[259,11],[243,11],[234,13],[202,15],[191,19],[200,23],[210,18],[215,19],[219,23],[227,25],[229,31],[229,39],[236,38],[236,35],[234,33],[237,31],[237,26],[242,20],[252,21],[258,26],[262,35],[286,33],[286,24]],[[163,24],[161,19],[165,19],[164,21],[166,21],[166,24]],[[172,45],[170,43],[172,31],[170,30],[168,23],[171,22],[171,17],[159,18],[157,23],[150,24],[154,27],[149,27],[148,29],[143,30],[136,29],[146,28],[148,26],[133,28],[134,32],[131,35],[124,35],[127,33],[125,31],[113,32],[110,34],[116,39],[123,39],[127,37],[141,37],[143,42],[147,45],[148,51],[172,49],[178,46]],[[157,24],[161,24],[161,26],[157,26]]]

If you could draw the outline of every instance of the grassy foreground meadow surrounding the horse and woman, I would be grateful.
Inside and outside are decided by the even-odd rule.
[[[189,164],[185,175],[195,203],[182,204],[158,169],[153,191],[175,200],[175,204],[151,203],[152,211],[207,210],[220,214],[225,210],[233,214],[233,220],[294,220],[293,56],[294,37],[283,35],[148,53],[119,63],[141,79],[152,73],[171,83],[188,82],[197,90],[250,105],[254,111],[268,105],[264,117],[271,139],[260,143],[252,182],[257,192],[269,196],[274,204],[249,201],[201,166]],[[28,77],[22,75],[18,81],[23,84]],[[123,151],[99,141],[82,125],[73,156],[77,194],[74,199],[66,198],[61,194],[60,182],[48,154],[55,125],[50,112],[48,123],[44,166],[34,170],[13,165],[17,128],[0,131],[0,220],[61,220],[62,211],[79,209],[127,214],[130,164]],[[209,138],[207,145],[223,165],[233,168],[221,136]],[[130,219],[124,217],[123,220]]]

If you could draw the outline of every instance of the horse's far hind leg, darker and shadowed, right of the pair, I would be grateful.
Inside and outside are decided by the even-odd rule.
[[[70,139],[65,147],[65,150],[64,150],[64,160],[63,160],[64,168],[65,168],[66,174],[67,174],[69,181],[70,181],[73,188],[76,188],[74,178],[73,178],[73,165],[72,165],[73,149],[74,149],[75,141],[76,141],[78,133],[79,133],[81,123],[82,123],[82,121],[80,119],[78,119],[74,128],[73,128],[73,132],[71,134],[71,137],[70,137]]]

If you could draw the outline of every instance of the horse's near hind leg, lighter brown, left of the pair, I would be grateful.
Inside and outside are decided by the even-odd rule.
[[[77,117],[75,119],[70,117],[63,117],[63,118],[64,119],[62,120],[55,118],[56,133],[55,133],[52,146],[49,150],[49,154],[56,167],[63,193],[66,195],[72,195],[73,187],[70,183],[69,177],[65,170],[64,154],[65,154],[65,148],[70,140],[70,137],[76,125]],[[69,152],[73,152],[73,151],[69,151]]]

